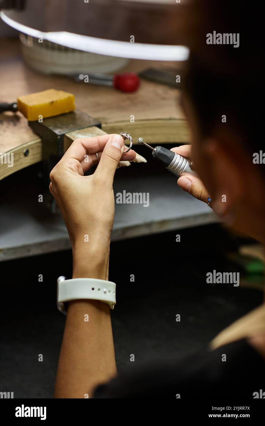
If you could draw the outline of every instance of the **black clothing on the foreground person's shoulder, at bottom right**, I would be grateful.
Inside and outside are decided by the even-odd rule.
[[[226,361],[224,361],[226,355]],[[132,366],[134,367],[134,366]],[[265,391],[265,362],[240,340],[182,361],[149,363],[99,386],[94,398],[253,398]],[[265,394],[264,394],[265,395]]]

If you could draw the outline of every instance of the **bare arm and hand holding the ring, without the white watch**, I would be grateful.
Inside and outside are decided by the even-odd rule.
[[[50,191],[68,229],[73,278],[108,279],[115,199],[113,178],[123,154],[121,135],[73,141],[50,174]],[[89,155],[88,155],[89,154]],[[87,171],[97,163],[96,170]],[[89,320],[85,321],[85,315]],[[116,374],[110,308],[92,300],[69,303],[55,385],[57,398],[84,398]]]

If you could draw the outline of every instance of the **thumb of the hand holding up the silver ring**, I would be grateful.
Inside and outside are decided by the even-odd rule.
[[[124,149],[124,138],[121,135],[112,135],[102,151],[99,165],[95,175],[100,175],[104,180],[113,181],[114,173]]]

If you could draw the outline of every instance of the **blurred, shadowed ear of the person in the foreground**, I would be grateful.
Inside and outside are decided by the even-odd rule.
[[[205,140],[203,146],[214,180],[212,208],[215,213],[223,215],[246,193],[242,146],[234,140],[229,143],[227,135],[220,134]]]

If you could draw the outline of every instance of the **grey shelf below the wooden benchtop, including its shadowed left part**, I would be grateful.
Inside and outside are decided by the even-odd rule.
[[[116,204],[112,241],[217,221],[207,204],[184,193],[167,170],[144,171],[145,164],[116,171],[114,194],[149,193],[149,206]],[[32,175],[34,181],[28,181]],[[43,190],[35,183],[35,176],[25,169],[10,176],[8,185],[6,179],[0,182],[1,261],[70,248],[60,213],[51,213],[45,196],[38,202]]]

